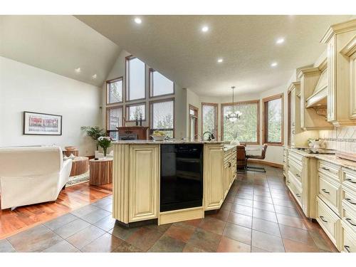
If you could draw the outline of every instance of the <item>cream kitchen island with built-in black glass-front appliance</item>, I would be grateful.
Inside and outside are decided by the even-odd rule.
[[[125,226],[142,221],[169,224],[220,209],[236,179],[236,146],[220,141],[118,141],[113,164],[113,217]],[[173,189],[164,186],[169,175],[179,183]],[[199,195],[199,181],[200,201],[192,197]],[[173,203],[167,210],[161,203],[169,197],[167,188],[172,189],[172,201],[183,199],[187,207]]]

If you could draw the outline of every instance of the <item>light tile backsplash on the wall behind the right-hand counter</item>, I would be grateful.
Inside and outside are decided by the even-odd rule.
[[[320,130],[319,136],[325,140],[325,148],[356,153],[356,126]]]

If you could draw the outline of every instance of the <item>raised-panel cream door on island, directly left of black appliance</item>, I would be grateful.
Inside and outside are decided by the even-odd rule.
[[[145,162],[145,164],[142,164]],[[129,221],[158,215],[159,146],[130,146]]]

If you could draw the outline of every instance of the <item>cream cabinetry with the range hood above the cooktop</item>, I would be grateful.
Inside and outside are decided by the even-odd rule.
[[[303,68],[300,78],[300,127],[303,130],[333,129],[328,122],[327,110],[327,61],[318,67]]]

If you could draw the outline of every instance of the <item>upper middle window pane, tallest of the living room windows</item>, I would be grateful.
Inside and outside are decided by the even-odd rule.
[[[140,59],[129,56],[126,58],[126,100],[144,99],[145,92],[145,63]]]

